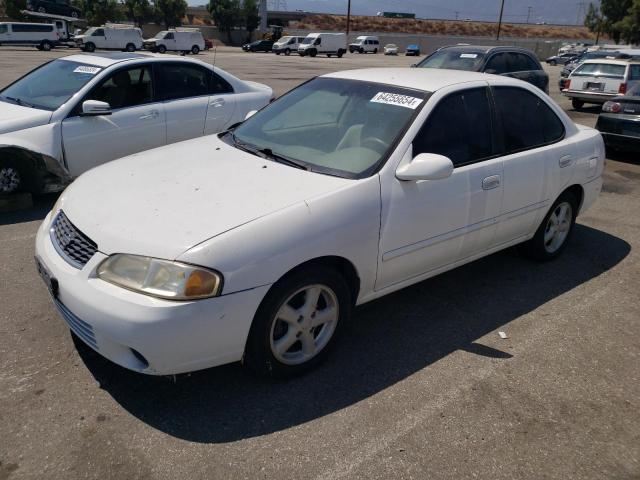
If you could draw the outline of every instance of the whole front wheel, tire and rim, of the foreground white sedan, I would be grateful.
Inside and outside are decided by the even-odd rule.
[[[344,278],[324,266],[298,270],[277,282],[251,325],[244,364],[259,375],[289,378],[321,362],[351,316]]]

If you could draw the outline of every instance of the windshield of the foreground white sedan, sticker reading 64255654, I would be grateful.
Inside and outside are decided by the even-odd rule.
[[[233,132],[239,148],[285,157],[348,178],[375,171],[428,93],[372,82],[316,78]]]

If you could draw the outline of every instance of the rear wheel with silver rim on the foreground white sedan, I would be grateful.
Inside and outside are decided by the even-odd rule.
[[[519,245],[526,257],[551,260],[567,245],[578,214],[578,200],[571,192],[564,192],[555,201],[531,240]]]

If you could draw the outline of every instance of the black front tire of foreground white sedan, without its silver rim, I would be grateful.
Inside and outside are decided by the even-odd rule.
[[[300,288],[312,284],[325,285],[333,290],[338,299],[338,323],[329,343],[315,357],[301,365],[285,365],[271,352],[271,325],[282,303]],[[336,270],[319,265],[292,272],[271,287],[258,307],[247,339],[244,363],[259,375],[281,379],[294,377],[312,369],[335,345],[344,325],[351,318],[352,304],[349,287]]]

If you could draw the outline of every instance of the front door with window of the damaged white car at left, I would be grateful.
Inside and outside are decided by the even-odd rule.
[[[99,100],[111,115],[83,116],[82,102]],[[62,122],[71,175],[166,143],[164,106],[155,101],[151,66],[120,69],[93,89]]]

